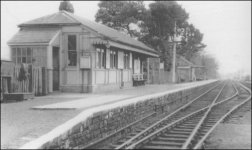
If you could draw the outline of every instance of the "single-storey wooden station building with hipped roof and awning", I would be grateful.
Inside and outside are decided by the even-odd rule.
[[[46,67],[48,92],[130,87],[143,80],[147,58],[158,57],[145,44],[66,11],[18,26],[8,42],[12,61]]]

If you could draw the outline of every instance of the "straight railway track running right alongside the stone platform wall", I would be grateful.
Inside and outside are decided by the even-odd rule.
[[[152,128],[154,126],[154,128],[158,127],[156,125],[158,125],[158,123],[162,122],[161,120],[164,118],[169,118],[171,116],[173,116],[173,114],[177,114],[179,111],[184,112],[184,115],[186,115],[186,113],[188,113],[189,111],[194,111],[194,110],[198,110],[201,108],[199,103],[202,103],[201,105],[208,105],[210,102],[207,103],[207,100],[200,102],[203,97],[206,94],[209,93],[217,93],[219,88],[223,88],[224,83],[218,83],[217,85],[214,85],[212,88],[210,88],[208,91],[204,92],[203,94],[201,94],[200,96],[196,97],[195,99],[191,100],[189,103],[185,104],[184,106],[180,107],[178,110],[176,110],[175,112],[171,113],[171,114],[167,114],[167,113],[163,113],[163,114],[159,114],[157,115],[155,112],[153,114],[147,115],[146,117],[139,119],[129,125],[127,125],[126,127],[116,131],[113,134],[108,135],[107,137],[104,137],[98,141],[92,142],[88,145],[83,146],[83,149],[98,149],[98,148],[115,148],[115,144],[118,143],[112,143],[112,141],[123,141],[123,140],[127,140],[127,139],[132,139],[132,137],[134,137],[137,133],[140,133],[141,131],[143,131],[144,129],[148,129],[148,128]],[[211,95],[211,94],[210,94]],[[209,100],[209,99],[208,99]],[[197,104],[198,103],[198,104]],[[197,104],[195,106],[190,106],[193,104]],[[185,111],[187,110],[187,111]],[[167,116],[168,115],[168,116]],[[178,114],[177,114],[178,115]],[[173,118],[176,119],[176,118]],[[125,137],[124,139],[119,139],[119,137]],[[111,144],[108,144],[111,143]]]

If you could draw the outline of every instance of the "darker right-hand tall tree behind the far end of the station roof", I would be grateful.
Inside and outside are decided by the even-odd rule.
[[[145,21],[149,33],[141,38],[161,54],[165,70],[171,69],[171,44],[168,39],[174,36],[175,22],[178,28],[188,19],[188,13],[175,1],[157,1],[149,5],[149,17]]]

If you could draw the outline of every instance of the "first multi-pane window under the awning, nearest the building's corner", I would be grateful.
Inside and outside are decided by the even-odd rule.
[[[96,67],[97,68],[106,68],[106,50],[105,48],[96,48]]]

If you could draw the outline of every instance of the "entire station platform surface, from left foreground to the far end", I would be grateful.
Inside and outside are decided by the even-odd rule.
[[[89,108],[130,98],[173,92],[216,80],[155,84],[104,93],[52,93],[32,100],[1,104],[1,149],[16,149],[52,131]]]

